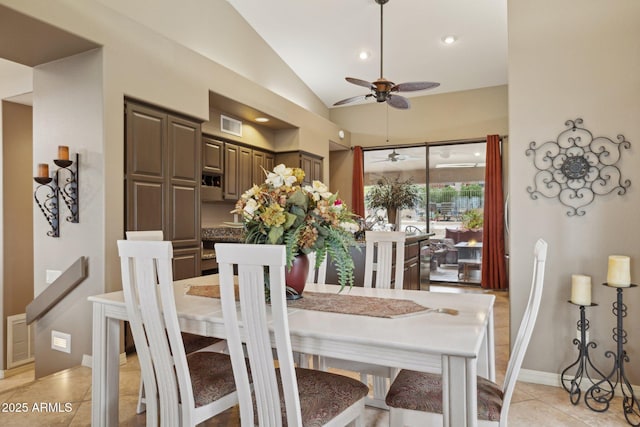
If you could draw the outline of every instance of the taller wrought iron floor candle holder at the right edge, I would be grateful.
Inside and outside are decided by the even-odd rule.
[[[619,385],[622,390],[622,409],[625,419],[632,426],[640,426],[640,404],[638,404],[638,399],[633,393],[633,388],[624,369],[624,364],[629,362],[629,356],[624,350],[624,344],[627,343],[627,332],[622,324],[623,318],[627,316],[627,306],[622,301],[622,293],[625,288],[610,286],[607,283],[603,283],[603,285],[617,290],[617,299],[613,303],[612,309],[617,319],[616,327],[613,328],[613,340],[617,344],[617,349],[615,352],[609,350],[604,353],[607,358],[613,359],[613,369],[609,375],[587,390],[584,401],[591,410],[604,412],[609,409],[615,388]],[[630,287],[635,288],[637,285],[630,285]]]

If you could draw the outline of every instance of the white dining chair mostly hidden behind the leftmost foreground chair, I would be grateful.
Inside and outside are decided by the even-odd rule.
[[[142,231],[127,231],[127,240],[137,241],[150,241],[158,242],[164,239],[164,233],[162,230],[142,230]],[[195,351],[224,351],[226,349],[226,343],[224,340],[213,337],[204,337],[201,335],[190,334],[188,332],[182,332],[182,342],[184,343],[184,349],[187,354]],[[140,347],[140,348],[138,348]],[[149,355],[149,349],[146,345],[136,346],[136,354],[138,355],[138,363],[142,365],[151,365],[151,358]],[[148,369],[148,368],[147,368]],[[155,381],[148,381],[147,391],[145,391],[144,377],[140,377],[140,387],[138,391],[138,404],[136,405],[136,413],[141,414],[147,411],[147,404],[156,405],[157,399],[153,402],[147,402],[146,395],[157,396],[157,388]],[[156,413],[156,409],[149,409],[147,413],[147,419],[151,421],[152,417]]]

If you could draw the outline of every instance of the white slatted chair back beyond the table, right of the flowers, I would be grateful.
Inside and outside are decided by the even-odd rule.
[[[373,285],[373,272],[376,272],[375,287],[388,289],[394,270],[394,289],[402,289],[404,282],[404,242],[406,234],[402,231],[366,231],[366,253],[364,264],[364,286]],[[394,250],[395,247],[395,250]]]

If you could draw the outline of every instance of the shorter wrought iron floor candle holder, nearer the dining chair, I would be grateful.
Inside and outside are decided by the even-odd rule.
[[[597,379],[604,378],[604,374],[595,367],[593,362],[591,362],[591,358],[589,357],[589,349],[595,349],[598,345],[593,341],[587,341],[589,320],[585,316],[585,307],[595,307],[598,304],[590,304],[588,306],[584,306],[581,304],[574,304],[571,301],[569,301],[569,303],[578,305],[580,307],[580,320],[578,320],[578,331],[580,331],[580,339],[573,339],[573,344],[578,347],[578,358],[571,365],[567,366],[564,371],[562,371],[561,380],[562,387],[569,393],[569,400],[574,405],[577,405],[578,402],[580,402],[580,395],[582,394],[582,391],[580,390],[582,381],[585,380],[588,381],[588,383],[590,383],[591,385],[594,385],[596,384],[596,379],[594,379],[595,374],[598,375],[597,377],[595,377]],[[575,374],[573,376],[568,374],[568,372],[572,368],[576,368]],[[611,389],[613,389],[613,385],[610,382],[608,383],[608,385]]]

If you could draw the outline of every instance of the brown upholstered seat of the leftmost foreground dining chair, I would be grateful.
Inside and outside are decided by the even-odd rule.
[[[187,355],[195,407],[206,405],[236,391],[228,354],[202,351]]]

